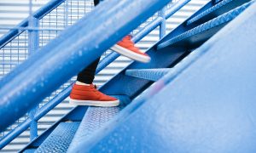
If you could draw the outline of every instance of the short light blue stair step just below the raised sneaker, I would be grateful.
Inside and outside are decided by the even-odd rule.
[[[143,78],[156,82],[161,77],[165,76],[166,73],[168,73],[170,70],[171,68],[126,70],[125,75]]]

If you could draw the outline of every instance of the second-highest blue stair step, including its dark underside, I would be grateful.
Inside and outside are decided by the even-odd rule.
[[[196,26],[195,28],[184,32],[177,37],[173,37],[166,42],[162,42],[157,46],[157,49],[166,48],[168,46],[195,46],[198,43],[207,41],[208,38],[212,37],[218,30],[225,26],[230,20],[233,20],[241,14],[248,6],[250,6],[254,1],[245,3],[240,7],[230,10],[229,12],[218,16],[212,20],[207,21],[201,26]]]

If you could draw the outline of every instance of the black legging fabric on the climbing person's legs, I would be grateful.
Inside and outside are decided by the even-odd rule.
[[[96,6],[98,3],[100,3],[100,0],[94,0],[94,5]],[[77,80],[79,82],[84,82],[87,84],[91,84],[94,80],[96,68],[99,64],[100,58],[96,59],[93,63],[91,63],[89,66],[85,67],[83,71],[79,72]]]

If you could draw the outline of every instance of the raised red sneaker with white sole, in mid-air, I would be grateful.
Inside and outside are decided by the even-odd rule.
[[[112,48],[113,51],[122,54],[130,59],[134,59],[143,63],[148,63],[150,57],[148,54],[144,54],[139,48],[134,46],[134,42],[131,41],[131,36],[126,36],[115,44]]]

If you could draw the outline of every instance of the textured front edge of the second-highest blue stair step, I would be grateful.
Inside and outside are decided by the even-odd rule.
[[[248,6],[250,6],[254,1],[251,1],[249,3],[245,3],[241,5],[238,8],[232,9],[229,12],[222,14],[218,16],[217,18],[214,18],[212,20],[207,21],[206,23],[202,24],[201,26],[196,26],[195,28],[183,32],[183,34],[178,35],[177,37],[173,37],[172,39],[162,42],[158,45],[158,49],[166,48],[167,46],[170,46],[176,42],[183,41],[184,39],[187,39],[189,37],[193,37],[197,34],[203,33],[205,31],[209,31],[210,29],[213,29],[214,27],[221,26],[224,23],[229,22],[230,20],[233,20],[241,14],[242,11],[244,11]]]

